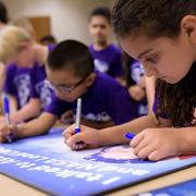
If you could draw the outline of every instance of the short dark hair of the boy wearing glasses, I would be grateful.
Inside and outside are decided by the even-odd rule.
[[[58,44],[48,57],[49,69],[71,70],[76,76],[87,77],[94,72],[94,59],[88,47],[76,40]]]

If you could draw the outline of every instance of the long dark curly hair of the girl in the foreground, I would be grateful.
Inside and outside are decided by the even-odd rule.
[[[179,36],[181,21],[186,15],[196,15],[196,0],[118,0],[112,10],[112,25],[121,38],[135,35],[173,38]],[[166,113],[173,126],[193,125],[195,74],[194,64],[177,84],[158,82],[157,115]]]

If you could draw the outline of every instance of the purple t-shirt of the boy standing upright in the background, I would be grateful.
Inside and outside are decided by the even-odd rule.
[[[89,46],[89,51],[94,57],[95,69],[101,73],[107,73],[112,77],[123,75],[122,51],[114,45],[109,45],[103,50],[97,51],[94,45]]]

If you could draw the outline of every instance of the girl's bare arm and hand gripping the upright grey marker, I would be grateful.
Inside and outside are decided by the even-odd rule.
[[[75,144],[83,140],[88,146],[106,146],[121,143],[127,143],[124,135],[127,132],[139,133],[147,127],[160,127],[169,125],[168,121],[161,122],[160,124],[156,121],[154,115],[146,115],[127,122],[122,125],[94,130],[86,126],[82,126],[82,132],[74,135],[74,125],[68,127],[64,131],[65,143],[74,149]]]

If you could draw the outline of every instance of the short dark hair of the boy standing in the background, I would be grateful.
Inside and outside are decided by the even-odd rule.
[[[95,10],[91,11],[89,19],[91,19],[93,16],[103,16],[111,25],[111,11],[109,8],[106,7],[96,8]]]

